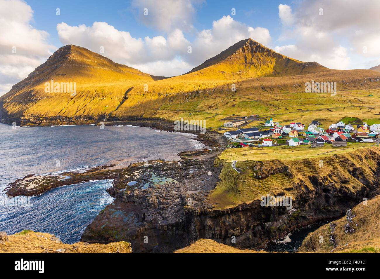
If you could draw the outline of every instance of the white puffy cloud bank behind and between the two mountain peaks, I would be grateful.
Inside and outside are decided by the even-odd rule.
[[[93,52],[104,47],[102,55],[158,76],[176,76],[186,73],[205,60],[219,54],[242,39],[249,37],[268,44],[269,30],[249,27],[223,16],[212,23],[212,28],[195,35],[188,41],[182,30],[175,28],[165,36],[133,38],[129,32],[117,30],[106,22],[94,22],[92,26],[70,26],[64,22],[57,25],[60,41],[74,44]],[[188,47],[192,52],[188,53]],[[171,65],[173,63],[173,65]]]

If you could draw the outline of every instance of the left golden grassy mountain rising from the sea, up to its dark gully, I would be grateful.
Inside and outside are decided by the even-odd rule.
[[[83,47],[68,45],[0,97],[8,115],[101,115],[116,109],[128,88],[160,79],[114,63]],[[46,93],[45,82],[75,82],[76,96]]]

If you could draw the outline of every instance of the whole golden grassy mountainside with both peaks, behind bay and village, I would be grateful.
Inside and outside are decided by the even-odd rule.
[[[51,79],[76,82],[76,96],[45,93],[44,83]],[[305,83],[311,80],[336,82],[337,94],[305,93]],[[40,117],[57,115],[84,119],[90,115],[100,121],[184,117],[206,120],[207,128],[214,129],[233,114],[258,114],[281,124],[294,120],[309,124],[318,118],[328,125],[343,117],[372,123],[380,121],[379,98],[380,74],[375,71],[327,69],[278,54],[252,39],[168,79],[116,64],[82,47],[65,46],[0,97],[0,118],[32,117],[38,124]]]

